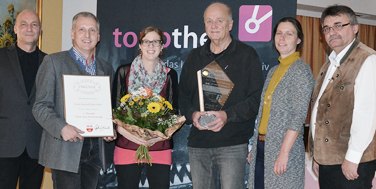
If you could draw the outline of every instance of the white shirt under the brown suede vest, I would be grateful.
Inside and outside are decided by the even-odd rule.
[[[355,41],[355,40],[354,40]],[[340,61],[354,41],[338,55],[332,52],[329,56],[330,66],[321,86],[320,93],[313,106],[311,115],[311,132],[315,138],[316,116],[318,101],[331,78],[340,66]],[[345,159],[359,164],[364,150],[371,143],[376,130],[376,55],[373,54],[364,61],[355,79],[354,110],[350,129],[350,140]]]

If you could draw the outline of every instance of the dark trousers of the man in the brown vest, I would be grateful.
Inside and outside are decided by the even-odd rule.
[[[376,160],[360,163],[358,179],[347,180],[342,173],[342,165],[319,165],[320,189],[371,189],[375,176]]]

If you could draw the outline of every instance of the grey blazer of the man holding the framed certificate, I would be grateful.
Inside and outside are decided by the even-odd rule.
[[[111,64],[96,58],[97,75],[109,75],[112,78],[114,70]],[[39,163],[51,169],[77,173],[83,142],[66,142],[60,135],[67,125],[64,119],[62,74],[89,75],[68,51],[44,58],[35,82],[37,93],[33,107],[33,115],[43,127]],[[103,139],[99,138],[99,141],[99,145],[103,145]]]

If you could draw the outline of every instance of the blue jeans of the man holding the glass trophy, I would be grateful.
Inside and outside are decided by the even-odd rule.
[[[188,147],[193,188],[216,189],[217,175],[222,189],[243,189],[247,144],[218,148]]]

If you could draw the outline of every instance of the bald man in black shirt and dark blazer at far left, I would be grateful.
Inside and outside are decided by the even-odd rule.
[[[35,77],[46,55],[37,47],[38,15],[18,14],[17,43],[0,49],[0,189],[39,189],[44,167],[38,164],[42,128],[32,115]]]

